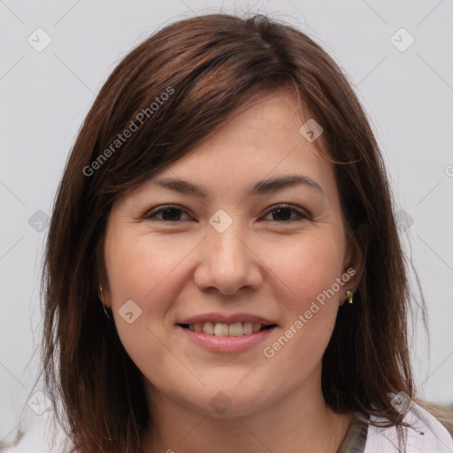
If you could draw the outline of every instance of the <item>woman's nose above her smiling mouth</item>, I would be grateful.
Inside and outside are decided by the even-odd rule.
[[[263,276],[257,252],[250,248],[247,236],[234,224],[223,233],[209,226],[200,244],[200,262],[194,274],[200,290],[234,295],[241,288],[257,289],[261,285]]]

